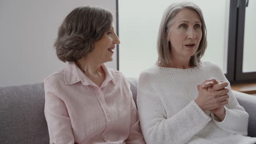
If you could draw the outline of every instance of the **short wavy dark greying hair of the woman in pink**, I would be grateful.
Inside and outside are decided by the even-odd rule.
[[[62,62],[74,62],[94,50],[95,43],[112,27],[110,11],[100,7],[78,7],[62,22],[54,47]]]

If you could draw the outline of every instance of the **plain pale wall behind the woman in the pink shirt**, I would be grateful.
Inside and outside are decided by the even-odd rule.
[[[1,0],[0,87],[43,82],[63,67],[53,49],[57,29],[65,16],[82,5],[100,5],[113,13],[115,0]],[[107,63],[117,69],[114,61]]]

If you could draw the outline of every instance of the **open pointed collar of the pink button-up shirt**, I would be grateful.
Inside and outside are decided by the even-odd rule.
[[[110,73],[110,71],[108,70],[106,65],[102,64],[101,67],[105,72],[105,80],[103,81],[101,87],[106,86],[109,81],[112,81],[113,84],[114,84],[113,75]],[[68,62],[65,65],[64,75],[65,75],[66,85],[73,85],[74,83],[77,83],[77,82],[81,81],[84,86],[86,86],[86,85],[96,86],[95,83],[92,82],[89,79],[89,77],[87,77],[82,72],[82,70],[80,70],[78,68],[78,66],[77,66],[77,64],[75,64],[75,62]]]

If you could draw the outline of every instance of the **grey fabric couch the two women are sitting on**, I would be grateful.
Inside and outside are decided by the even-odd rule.
[[[137,79],[129,79],[133,99],[137,96]],[[256,97],[235,92],[238,102],[249,113],[248,135],[256,137]],[[44,117],[44,85],[0,88],[0,143],[46,144],[48,128]]]

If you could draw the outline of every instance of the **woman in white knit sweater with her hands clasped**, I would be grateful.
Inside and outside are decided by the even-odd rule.
[[[206,50],[202,11],[193,3],[168,7],[158,35],[158,62],[139,76],[142,133],[152,143],[254,143],[248,113],[237,103]]]

